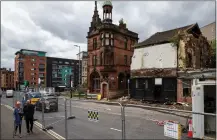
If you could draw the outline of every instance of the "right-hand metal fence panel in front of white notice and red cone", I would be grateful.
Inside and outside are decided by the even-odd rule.
[[[124,106],[126,139],[216,139],[214,113],[132,106]],[[174,105],[168,107],[172,106]]]

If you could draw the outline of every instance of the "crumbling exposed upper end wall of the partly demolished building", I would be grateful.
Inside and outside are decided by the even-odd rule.
[[[180,33],[178,49],[179,70],[209,68],[211,65],[211,46],[207,39],[188,33]]]

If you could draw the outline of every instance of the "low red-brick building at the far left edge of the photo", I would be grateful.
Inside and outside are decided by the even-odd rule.
[[[11,71],[11,69],[7,70],[6,68],[1,68],[0,75],[0,88],[2,90],[14,89],[14,71]]]

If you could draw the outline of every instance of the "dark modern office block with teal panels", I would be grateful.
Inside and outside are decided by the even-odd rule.
[[[76,87],[79,60],[47,57],[47,87]],[[72,82],[72,83],[71,83]]]

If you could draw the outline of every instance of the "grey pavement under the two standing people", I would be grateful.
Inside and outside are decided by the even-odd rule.
[[[12,110],[8,109],[4,105],[1,105],[1,139],[54,139],[54,137],[40,130],[36,126],[33,128],[34,133],[28,135],[26,133],[26,126],[24,121],[22,123],[22,138],[18,136],[15,136],[13,138],[14,126],[12,113]]]

